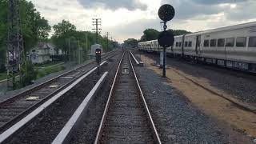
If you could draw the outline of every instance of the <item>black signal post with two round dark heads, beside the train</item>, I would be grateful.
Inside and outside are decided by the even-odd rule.
[[[163,31],[158,36],[158,44],[163,47],[162,77],[166,78],[166,48],[174,44],[174,34],[166,31],[166,23],[174,18],[175,10],[169,4],[162,5],[158,10],[158,16],[163,23]]]

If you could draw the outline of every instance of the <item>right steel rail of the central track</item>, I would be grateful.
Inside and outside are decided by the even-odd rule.
[[[129,55],[129,59],[130,59],[130,55]],[[157,141],[158,144],[161,144],[162,142],[161,142],[161,140],[160,140],[160,138],[159,138],[158,130],[156,129],[156,127],[155,127],[155,125],[154,125],[154,121],[153,121],[153,118],[152,118],[152,116],[151,116],[151,114],[150,114],[149,107],[148,107],[147,104],[146,104],[146,99],[145,99],[144,94],[143,94],[143,92],[142,92],[142,88],[141,88],[141,86],[140,86],[140,84],[139,84],[139,82],[138,82],[138,77],[137,77],[137,74],[136,74],[136,72],[135,72],[135,70],[134,70],[134,65],[133,65],[133,62],[131,62],[131,59],[130,59],[130,65],[131,65],[132,70],[133,70],[133,72],[134,72],[134,78],[135,78],[135,80],[136,80],[136,83],[137,83],[137,86],[138,86],[138,90],[139,90],[140,95],[141,95],[141,97],[142,97],[142,101],[143,101],[144,107],[145,107],[145,109],[146,109],[146,114],[148,115],[148,118],[150,119],[150,124],[151,124],[150,126],[152,126],[152,129],[154,130],[154,138],[155,138],[155,141]]]

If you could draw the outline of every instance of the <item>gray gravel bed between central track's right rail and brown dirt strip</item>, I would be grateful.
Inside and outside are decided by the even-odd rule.
[[[162,143],[229,143],[216,122],[152,70],[135,67]]]

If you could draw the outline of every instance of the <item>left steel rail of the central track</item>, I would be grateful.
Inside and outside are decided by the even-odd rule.
[[[120,60],[120,62],[118,64],[118,70],[116,71],[116,73],[114,75],[114,80],[113,80],[113,83],[112,83],[112,86],[111,86],[110,94],[109,94],[109,97],[108,97],[107,102],[106,102],[105,110],[104,110],[104,113],[103,113],[103,117],[102,117],[100,126],[98,128],[98,132],[97,132],[94,144],[98,144],[99,143],[98,141],[99,141],[99,139],[100,139],[100,137],[102,135],[103,124],[106,121],[106,113],[107,113],[107,111],[109,109],[109,106],[110,106],[110,99],[111,99],[113,91],[114,91],[114,86],[115,86],[115,83],[116,83],[116,79],[118,78],[118,72],[120,70],[120,66],[121,66],[122,59],[123,59],[124,55],[125,55],[125,53],[122,54],[122,58],[121,58],[121,60]]]

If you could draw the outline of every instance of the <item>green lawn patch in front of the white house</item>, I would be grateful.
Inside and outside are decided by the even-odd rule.
[[[65,67],[64,66],[50,66],[50,67],[42,68],[42,69],[38,70],[37,78],[42,78],[48,74],[56,73],[61,70],[65,70]]]

